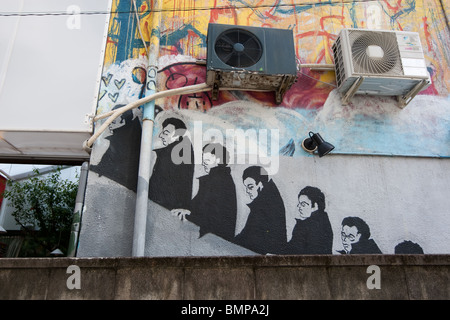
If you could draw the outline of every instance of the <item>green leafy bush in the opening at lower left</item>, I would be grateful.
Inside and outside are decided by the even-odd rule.
[[[8,182],[5,199],[12,216],[27,231],[21,256],[47,256],[59,248],[67,252],[78,183],[61,179],[61,167],[46,176],[38,169],[20,182]],[[32,227],[30,227],[32,226]]]

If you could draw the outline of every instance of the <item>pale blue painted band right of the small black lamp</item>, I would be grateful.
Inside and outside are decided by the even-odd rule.
[[[450,157],[450,113],[442,113],[439,123],[423,127],[401,123],[399,116],[390,114],[376,117],[357,114],[351,118],[333,117],[328,121],[317,121],[320,110],[296,111],[311,123],[312,131],[320,132],[326,141],[335,146],[333,153]],[[295,136],[292,130],[289,133],[298,145],[307,135],[305,132],[305,137]],[[307,155],[300,147],[296,148],[293,156]]]

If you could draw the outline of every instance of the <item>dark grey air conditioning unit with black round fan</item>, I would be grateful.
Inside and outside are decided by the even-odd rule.
[[[210,23],[207,77],[212,99],[219,88],[274,91],[280,104],[297,79],[292,30]]]

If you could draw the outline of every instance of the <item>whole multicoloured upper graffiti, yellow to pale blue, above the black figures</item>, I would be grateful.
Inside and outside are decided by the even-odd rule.
[[[137,0],[136,6],[138,14],[132,1],[113,1],[98,113],[142,97],[144,78],[133,70],[145,70],[151,35],[160,39],[157,90],[161,91],[205,81],[206,67],[197,61],[206,58],[208,23],[292,29],[301,64],[332,64],[331,47],[343,28],[415,31],[432,84],[403,110],[396,107],[394,97],[355,97],[344,106],[336,92],[335,73],[309,68],[299,70],[297,82],[280,105],[275,104],[273,93],[252,91],[220,91],[214,101],[210,92],[203,92],[168,97],[156,104],[158,110],[200,112],[232,101],[289,108],[315,130],[333,136],[339,145],[335,152],[450,156],[448,148],[442,150],[449,141],[450,36],[439,1]],[[424,103],[427,109],[421,107]],[[394,136],[405,147],[383,143]],[[425,143],[431,136],[433,141]]]

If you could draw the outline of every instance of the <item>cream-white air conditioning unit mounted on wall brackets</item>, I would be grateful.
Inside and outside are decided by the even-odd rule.
[[[404,108],[431,84],[417,32],[343,29],[332,49],[343,104],[355,94],[382,95]]]

